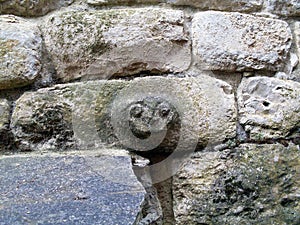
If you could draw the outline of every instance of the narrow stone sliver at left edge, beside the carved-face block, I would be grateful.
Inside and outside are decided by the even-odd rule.
[[[6,99],[0,99],[0,151],[5,149],[10,136],[8,127],[10,120],[10,105]]]

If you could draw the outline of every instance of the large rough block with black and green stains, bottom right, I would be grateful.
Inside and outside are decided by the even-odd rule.
[[[299,146],[199,152],[173,182],[176,224],[299,224]]]

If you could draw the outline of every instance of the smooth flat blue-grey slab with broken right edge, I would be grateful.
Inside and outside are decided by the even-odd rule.
[[[0,157],[1,224],[134,224],[145,199],[121,150]]]

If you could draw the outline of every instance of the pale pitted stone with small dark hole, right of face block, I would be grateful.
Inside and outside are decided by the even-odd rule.
[[[300,127],[300,84],[277,78],[244,78],[238,89],[240,123],[251,139],[280,138]]]

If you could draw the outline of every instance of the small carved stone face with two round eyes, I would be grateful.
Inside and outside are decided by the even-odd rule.
[[[178,114],[167,101],[158,97],[145,98],[130,106],[129,125],[132,133],[141,139],[148,138],[151,133],[168,130],[175,122]]]

